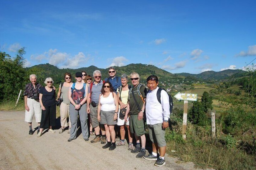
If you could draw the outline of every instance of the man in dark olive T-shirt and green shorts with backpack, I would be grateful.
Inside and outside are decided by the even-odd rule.
[[[135,133],[136,146],[131,150],[131,153],[138,153],[136,158],[142,158],[146,154],[146,137],[145,137],[145,124],[143,120],[143,113],[145,108],[145,98],[147,89],[144,85],[139,83],[139,74],[136,72],[130,75],[133,88],[130,88],[128,94],[128,105],[124,119],[127,122],[128,114],[130,113],[129,123],[131,136]],[[139,143],[141,139],[141,147]]]

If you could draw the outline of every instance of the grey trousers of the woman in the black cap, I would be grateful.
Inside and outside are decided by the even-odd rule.
[[[70,114],[70,122],[71,122],[71,129],[70,129],[70,139],[76,138],[76,131],[77,131],[77,116],[79,114],[82,135],[84,139],[88,139],[88,113],[86,112],[87,105],[83,104],[79,110],[75,110],[75,106],[73,104],[69,104],[69,114]]]

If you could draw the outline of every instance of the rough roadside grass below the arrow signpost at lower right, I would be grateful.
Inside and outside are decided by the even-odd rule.
[[[216,128],[221,125],[216,125]],[[211,138],[211,127],[196,127],[188,122],[187,140],[181,134],[182,120],[171,117],[171,128],[166,129],[165,139],[169,156],[178,162],[194,162],[200,168],[255,169],[255,155],[248,154],[238,146],[231,135],[217,132]],[[243,146],[244,147],[244,146]]]

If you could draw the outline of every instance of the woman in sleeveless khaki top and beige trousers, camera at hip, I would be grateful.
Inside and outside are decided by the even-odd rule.
[[[59,106],[60,125],[61,125],[59,133],[62,133],[63,131],[65,131],[65,127],[67,126],[67,116],[69,115],[69,104],[70,104],[68,94],[69,94],[69,88],[73,84],[71,82],[71,78],[72,78],[72,76],[70,73],[65,73],[65,76],[64,76],[65,82],[61,83],[62,87],[61,87],[61,84],[59,85],[59,92],[57,94],[57,98],[62,98],[62,100],[63,100]],[[69,121],[69,132],[68,133],[70,133],[70,128],[71,128],[71,122]]]

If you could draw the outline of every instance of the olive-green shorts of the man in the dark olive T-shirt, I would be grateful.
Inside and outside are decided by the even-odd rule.
[[[144,120],[138,120],[138,115],[130,115],[129,123],[130,132],[135,133],[136,136],[142,136],[146,133]]]

